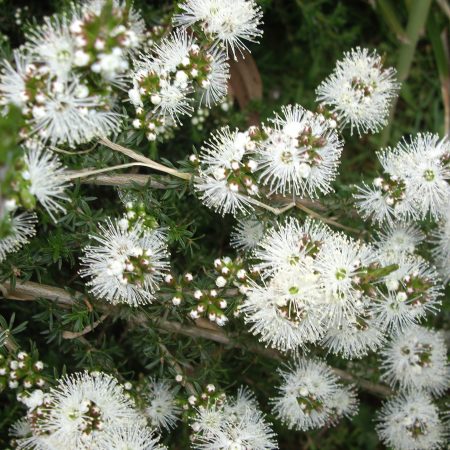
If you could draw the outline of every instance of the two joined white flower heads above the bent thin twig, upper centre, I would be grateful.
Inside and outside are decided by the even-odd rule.
[[[343,146],[334,127],[300,105],[283,107],[261,129],[224,127],[202,147],[195,187],[206,206],[224,214],[247,213],[260,195],[330,192]]]

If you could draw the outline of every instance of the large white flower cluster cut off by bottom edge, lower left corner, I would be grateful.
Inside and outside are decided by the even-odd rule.
[[[105,373],[63,377],[47,394],[34,391],[27,406],[28,426],[15,433],[18,448],[108,449],[114,442],[162,450],[124,388]]]

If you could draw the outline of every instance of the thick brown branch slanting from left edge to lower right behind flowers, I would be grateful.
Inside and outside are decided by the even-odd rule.
[[[47,298],[53,300],[56,303],[61,303],[64,306],[72,305],[75,303],[74,298],[65,290],[57,287],[46,286],[43,284],[33,283],[31,281],[25,281],[23,283],[17,283],[15,289],[11,289],[9,283],[3,284],[3,292],[5,298],[13,300],[33,300],[35,298]],[[33,297],[34,296],[34,297]],[[82,297],[82,294],[79,294]],[[109,308],[110,309],[110,308]],[[133,319],[137,324],[144,325],[148,322],[148,317],[145,314],[140,314]],[[284,361],[286,357],[276,350],[261,347],[260,345],[249,344],[245,345],[233,340],[233,337],[227,335],[222,329],[210,330],[206,328],[198,328],[192,325],[185,325],[179,322],[172,322],[165,319],[152,320],[156,327],[161,330],[168,331],[170,333],[181,334],[191,338],[203,338],[208,339],[219,344],[232,348],[242,348],[251,353],[264,356],[266,358],[275,359],[278,361]],[[355,377],[354,375],[342,370],[333,369],[335,373],[343,380],[357,384],[361,389],[370,392],[377,396],[386,397],[392,394],[389,387],[381,384],[371,383],[370,381],[363,380]]]

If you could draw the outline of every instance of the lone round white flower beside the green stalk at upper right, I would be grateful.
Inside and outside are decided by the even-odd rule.
[[[317,100],[336,113],[342,126],[359,134],[376,133],[386,125],[399,84],[395,70],[384,69],[381,57],[357,47],[344,53],[333,73],[317,88]]]

